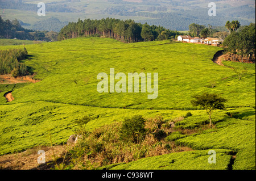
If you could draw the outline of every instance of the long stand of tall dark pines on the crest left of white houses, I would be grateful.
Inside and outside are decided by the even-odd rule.
[[[105,36],[131,43],[138,41],[174,39],[183,33],[168,30],[160,26],[149,26],[147,23],[135,23],[134,20],[106,18],[101,20],[85,19],[69,23],[60,30],[58,40],[80,36]]]

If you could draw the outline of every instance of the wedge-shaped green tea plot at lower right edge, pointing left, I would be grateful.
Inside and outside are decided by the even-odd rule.
[[[232,149],[237,153],[234,169],[255,169],[255,122],[230,121],[232,124],[217,131],[182,138],[177,143],[195,149]]]

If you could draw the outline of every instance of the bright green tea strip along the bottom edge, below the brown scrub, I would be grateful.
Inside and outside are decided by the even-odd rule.
[[[138,161],[129,162],[113,166],[113,170],[224,170],[229,163],[230,150],[215,150],[216,151],[216,164],[208,163],[209,150],[200,151],[186,151],[180,153],[171,153],[155,157],[143,158]]]

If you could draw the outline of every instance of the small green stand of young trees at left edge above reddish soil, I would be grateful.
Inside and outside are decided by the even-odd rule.
[[[13,77],[27,75],[28,67],[20,62],[26,56],[26,48],[0,50],[0,74],[12,74]]]

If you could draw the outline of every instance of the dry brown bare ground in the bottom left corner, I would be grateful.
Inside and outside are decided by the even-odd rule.
[[[46,163],[38,163],[38,158],[40,157],[38,154],[39,150],[45,151]],[[0,170],[49,170],[55,167],[54,159],[61,158],[66,150],[66,145],[59,145],[53,146],[52,148],[36,147],[23,151],[22,153],[1,155]]]

